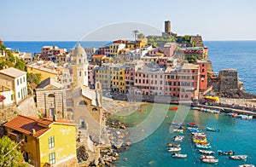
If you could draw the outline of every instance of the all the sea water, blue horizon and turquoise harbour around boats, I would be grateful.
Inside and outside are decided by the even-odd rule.
[[[223,68],[236,68],[239,78],[244,82],[247,92],[256,94],[256,41],[205,41],[209,49],[209,60],[212,61],[214,72]],[[76,46],[77,42],[4,42],[6,47],[21,52],[38,53],[44,45],[55,45],[67,50]],[[106,45],[108,42],[83,42],[84,47]],[[129,115],[116,116],[127,124],[135,124],[133,129],[127,129],[133,136],[128,151],[119,153],[114,166],[238,166],[240,164],[256,165],[256,119],[243,120],[231,118],[225,113],[210,114],[191,110],[189,107],[177,106],[177,111],[170,111],[164,104],[152,103],[143,105],[140,110],[129,112]],[[143,120],[142,120],[143,119]],[[183,134],[173,133],[172,121],[182,121],[184,124],[195,122],[207,133],[207,141],[211,143],[218,164],[204,164],[200,153],[191,142],[188,131]],[[143,128],[140,127],[143,124]],[[145,126],[146,124],[146,126]],[[219,132],[206,131],[206,127],[214,127]],[[146,133],[147,132],[147,133]],[[143,134],[146,135],[143,135]],[[172,158],[167,151],[167,143],[173,142],[175,135],[184,135],[180,141],[182,150],[188,156],[184,159]],[[236,154],[247,154],[247,160],[232,160],[228,156],[219,156],[217,151],[232,150]]]

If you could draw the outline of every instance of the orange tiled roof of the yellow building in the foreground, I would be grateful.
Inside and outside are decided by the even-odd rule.
[[[44,124],[45,126],[40,126],[39,124]],[[54,122],[49,118],[34,118],[31,116],[17,116],[16,118],[10,120],[8,123],[3,124],[3,126],[10,128],[12,130],[17,130],[26,135],[32,135],[32,129],[36,130],[34,137],[38,138],[43,135],[47,130],[50,129],[50,124],[67,124],[69,122],[64,120],[57,120]]]

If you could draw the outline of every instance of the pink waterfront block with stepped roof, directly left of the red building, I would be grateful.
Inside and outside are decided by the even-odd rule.
[[[198,99],[199,75],[198,65],[185,63],[177,68],[168,66],[165,72],[164,94],[181,101]]]

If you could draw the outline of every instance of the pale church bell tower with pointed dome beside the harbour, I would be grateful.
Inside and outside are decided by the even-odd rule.
[[[72,57],[73,68],[73,88],[75,87],[88,87],[88,60],[84,48],[80,43],[75,48]]]

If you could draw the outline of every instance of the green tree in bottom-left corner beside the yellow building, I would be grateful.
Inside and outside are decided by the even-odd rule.
[[[0,139],[0,166],[26,166],[22,153],[17,150],[20,143],[15,143],[8,136]]]

